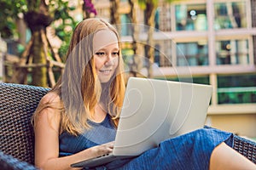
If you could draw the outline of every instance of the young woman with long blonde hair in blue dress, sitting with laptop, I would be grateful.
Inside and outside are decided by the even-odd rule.
[[[74,162],[107,154],[125,94],[117,31],[101,19],[73,32],[65,71],[33,116],[35,165],[72,169]],[[99,169],[256,169],[231,149],[232,134],[203,128],[163,141],[158,148]]]

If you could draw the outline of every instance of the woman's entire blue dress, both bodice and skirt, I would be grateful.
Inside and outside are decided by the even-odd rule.
[[[60,156],[69,156],[97,144],[113,141],[116,130],[106,116],[103,122],[89,122],[91,128],[79,136],[60,135]],[[205,127],[176,138],[167,139],[159,147],[145,151],[136,158],[110,162],[95,169],[209,169],[212,150],[220,143],[232,146],[233,135]]]

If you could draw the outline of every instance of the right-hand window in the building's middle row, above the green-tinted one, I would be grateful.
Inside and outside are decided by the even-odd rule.
[[[247,65],[249,63],[247,40],[218,41],[216,53],[217,65]]]

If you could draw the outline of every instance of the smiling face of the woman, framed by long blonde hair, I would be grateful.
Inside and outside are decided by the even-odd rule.
[[[97,31],[93,39],[96,73],[101,82],[108,82],[119,64],[119,42],[113,31]]]

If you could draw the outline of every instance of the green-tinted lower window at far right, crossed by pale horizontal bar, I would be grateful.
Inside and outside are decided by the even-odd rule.
[[[256,75],[218,76],[218,104],[256,103]]]

